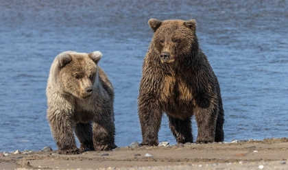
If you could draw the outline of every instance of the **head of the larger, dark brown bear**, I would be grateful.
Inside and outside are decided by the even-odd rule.
[[[180,61],[191,53],[197,45],[195,34],[196,21],[149,19],[149,26],[154,31],[152,45],[156,48],[162,63]]]

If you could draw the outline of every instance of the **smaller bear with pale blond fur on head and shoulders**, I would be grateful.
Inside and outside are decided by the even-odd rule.
[[[65,51],[51,65],[46,89],[47,119],[62,154],[116,147],[114,90],[97,65],[101,56],[99,51]]]

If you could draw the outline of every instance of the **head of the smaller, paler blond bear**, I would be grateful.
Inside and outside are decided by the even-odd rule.
[[[58,83],[64,93],[85,99],[93,94],[93,85],[98,83],[97,63],[100,51],[92,53],[67,52],[58,56]]]

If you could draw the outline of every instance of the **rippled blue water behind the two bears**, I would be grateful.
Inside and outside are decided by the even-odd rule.
[[[137,114],[150,18],[196,19],[219,79],[225,141],[288,137],[288,1],[0,0],[0,152],[57,149],[46,119],[51,62],[101,51],[115,88],[116,144],[142,141]],[[193,121],[193,136],[197,127]],[[163,117],[159,141],[176,144]]]

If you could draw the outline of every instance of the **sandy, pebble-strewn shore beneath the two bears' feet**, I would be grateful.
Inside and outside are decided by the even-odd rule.
[[[150,154],[152,157],[146,157]],[[288,169],[288,138],[263,141],[129,147],[60,155],[0,154],[1,169]]]

